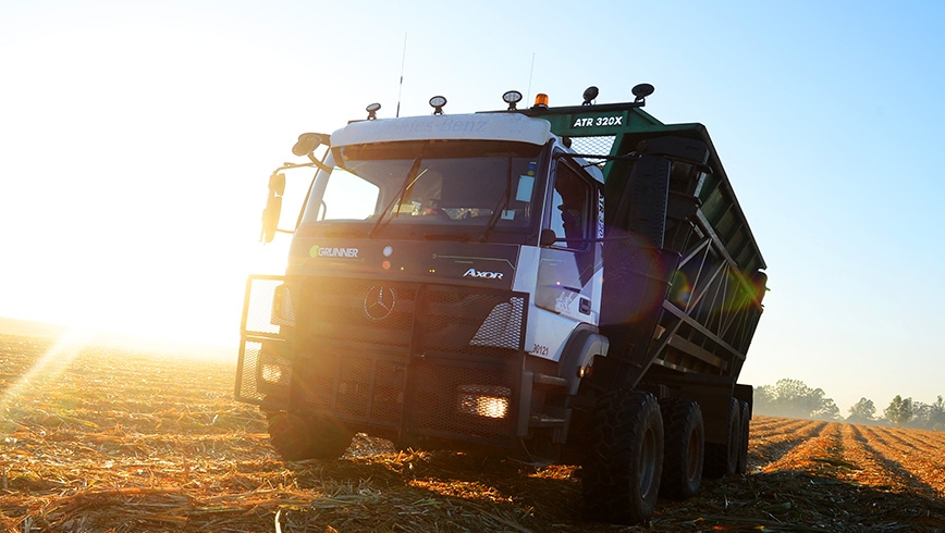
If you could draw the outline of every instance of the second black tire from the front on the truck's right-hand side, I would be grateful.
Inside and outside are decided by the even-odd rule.
[[[686,499],[699,494],[704,464],[705,429],[699,404],[685,398],[660,400],[663,413],[663,478],[660,496]]]

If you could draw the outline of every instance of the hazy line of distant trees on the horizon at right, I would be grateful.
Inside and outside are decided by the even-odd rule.
[[[774,385],[756,388],[753,411],[772,417],[945,431],[945,400],[942,396],[934,404],[923,404],[896,395],[881,414],[877,414],[873,400],[862,397],[844,417],[836,402],[822,389],[811,388],[800,380],[784,379]]]

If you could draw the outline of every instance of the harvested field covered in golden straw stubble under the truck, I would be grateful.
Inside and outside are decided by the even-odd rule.
[[[750,473],[641,526],[580,516],[579,471],[359,436],[285,463],[234,362],[0,336],[10,532],[943,531],[945,433],[756,417]]]

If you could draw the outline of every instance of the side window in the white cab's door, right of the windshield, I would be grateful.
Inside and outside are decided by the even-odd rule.
[[[564,239],[557,246],[584,248],[579,239],[590,237],[590,185],[573,169],[559,162],[552,193],[551,230]]]

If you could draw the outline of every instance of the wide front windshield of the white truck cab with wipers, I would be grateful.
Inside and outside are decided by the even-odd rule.
[[[502,231],[531,224],[542,147],[422,140],[335,147],[303,224],[348,222],[368,232],[441,225]]]

